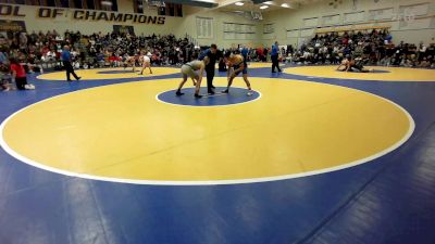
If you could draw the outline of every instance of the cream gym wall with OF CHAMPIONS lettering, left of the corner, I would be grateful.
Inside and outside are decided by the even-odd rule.
[[[110,33],[113,30],[113,25],[130,25],[134,26],[137,35],[174,34],[177,37],[184,37],[188,34],[190,37],[196,39],[198,44],[216,43],[217,46],[225,48],[239,43],[253,43],[256,40],[261,40],[261,37],[257,34],[257,23],[252,23],[252,21],[241,16],[231,15],[220,11],[211,11],[203,8],[183,7],[184,17],[158,16],[157,10],[149,10],[144,14],[140,14],[146,17],[137,17],[136,22],[134,21],[135,17],[133,17],[133,20],[126,20],[124,22],[123,20],[115,21],[114,18],[119,17],[119,14],[122,14],[122,17],[125,17],[125,14],[133,14],[134,16],[133,2],[130,0],[119,0],[120,12],[89,10],[91,11],[89,13],[90,15],[96,12],[97,16],[95,18],[100,17],[99,21],[91,20],[92,17],[88,17],[86,21],[77,20],[86,18],[86,12],[75,13],[77,11],[75,9],[14,4],[7,5],[12,7],[12,13],[5,15],[4,13],[7,13],[8,10],[2,8],[0,20],[24,21],[27,31],[47,31],[57,29],[59,33],[63,33],[69,29],[79,30],[83,34],[91,34],[95,31]],[[15,8],[20,9],[16,13]],[[45,9],[42,14],[47,17],[38,16],[40,15],[39,11],[41,8]],[[100,16],[101,13],[102,16]],[[54,14],[55,17],[52,17]],[[116,15],[111,16],[111,14]],[[105,20],[105,16],[109,21]],[[149,20],[149,17],[151,17],[151,20]],[[154,17],[157,17],[157,20],[154,20]],[[161,17],[164,17],[164,24]],[[144,23],[139,23],[139,21]],[[228,38],[223,31],[224,23],[248,24],[252,27],[251,34],[249,34],[249,36],[246,35],[243,37],[238,36],[237,38]]]

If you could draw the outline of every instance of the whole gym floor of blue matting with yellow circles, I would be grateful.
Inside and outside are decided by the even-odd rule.
[[[0,243],[435,243],[435,70],[335,67],[199,100],[179,68],[29,75],[0,93]]]

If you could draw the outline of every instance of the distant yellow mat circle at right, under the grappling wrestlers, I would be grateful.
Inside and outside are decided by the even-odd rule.
[[[386,80],[386,81],[435,81],[435,69],[403,68],[403,67],[374,67],[385,73],[356,73],[337,72],[338,65],[334,66],[301,66],[285,68],[284,73],[302,76],[313,76],[322,78],[338,79],[360,79],[360,80]]]

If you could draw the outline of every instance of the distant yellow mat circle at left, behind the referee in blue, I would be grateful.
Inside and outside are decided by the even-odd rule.
[[[179,73],[179,68],[176,67],[151,67],[152,74],[149,74],[149,69],[144,70],[144,75],[139,75],[141,67],[136,67],[136,72],[133,72],[132,67],[123,68],[92,68],[92,69],[77,69],[75,73],[80,76],[84,80],[95,80],[95,79],[122,79],[122,78],[138,78],[138,77],[149,77],[149,76],[162,76]],[[66,80],[65,70],[47,73],[39,75],[38,79],[46,80]],[[74,77],[71,76],[74,80]]]

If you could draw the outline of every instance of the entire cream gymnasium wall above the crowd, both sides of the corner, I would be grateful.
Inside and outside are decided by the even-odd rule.
[[[138,35],[154,33],[184,37],[188,34],[198,44],[216,43],[223,48],[237,44],[270,46],[275,40],[278,40],[281,44],[299,46],[321,27],[334,28],[335,26],[388,25],[391,26],[390,30],[396,42],[399,40],[413,43],[435,41],[435,1],[433,0],[341,0],[343,3],[333,5],[330,5],[330,2],[334,0],[311,0],[311,2],[296,10],[282,9],[264,12],[262,22],[254,22],[220,10],[186,5],[183,7],[184,17],[164,16],[164,24],[161,20],[154,20],[154,17],[162,17],[157,15],[156,10],[146,11],[142,14],[146,17],[140,18],[145,23],[139,23],[138,20],[136,22],[134,20],[110,21],[111,14],[115,12],[105,12],[109,21],[105,21],[104,16],[100,21],[75,20],[74,9],[60,8],[55,17],[38,17],[38,10],[41,7],[13,4],[8,5],[20,8],[20,11],[16,14],[2,14],[0,20],[24,21],[29,31],[57,29],[63,33],[70,29],[80,30],[84,34],[109,33],[113,30],[113,25],[130,25]],[[355,5],[353,2],[356,2]],[[120,12],[116,14],[123,14],[123,16],[134,14],[130,0],[119,0],[119,7]],[[45,9],[50,9],[52,15],[55,8]],[[3,9],[2,12],[4,11]],[[96,12],[100,14],[104,11]],[[46,11],[45,14],[47,13]],[[83,13],[78,14],[78,17],[80,16],[84,16]]]

